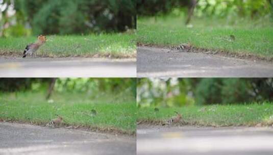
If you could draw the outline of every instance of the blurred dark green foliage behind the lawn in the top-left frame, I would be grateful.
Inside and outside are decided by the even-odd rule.
[[[0,7],[4,5],[8,7],[0,9],[0,36],[7,37],[5,29],[16,24],[24,25],[35,35],[123,32],[136,28],[135,0],[0,1]],[[11,10],[16,11],[15,15],[8,15]],[[9,33],[13,34],[28,35]]]

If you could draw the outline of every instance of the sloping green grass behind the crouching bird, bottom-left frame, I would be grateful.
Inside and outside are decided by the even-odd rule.
[[[44,99],[45,94],[38,92],[1,94],[0,118],[45,125],[58,114],[64,118],[65,125],[81,125],[95,131],[135,134],[135,99],[114,100],[106,95],[97,98],[83,96],[78,93],[55,94],[47,101]],[[95,116],[92,116],[92,109],[97,112]]]

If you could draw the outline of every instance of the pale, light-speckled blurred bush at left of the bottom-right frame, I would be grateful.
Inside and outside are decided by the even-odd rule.
[[[194,104],[190,79],[141,78],[137,80],[137,106],[185,106]]]

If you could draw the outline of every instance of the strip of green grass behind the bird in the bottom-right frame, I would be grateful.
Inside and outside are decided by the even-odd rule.
[[[161,108],[155,112],[154,108],[139,108],[138,122],[161,124],[166,119],[175,116],[173,111],[183,115],[187,124],[205,126],[255,126],[273,124],[273,104],[203,106],[182,108]]]

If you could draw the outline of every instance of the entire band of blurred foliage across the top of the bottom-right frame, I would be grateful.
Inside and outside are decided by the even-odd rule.
[[[142,78],[138,107],[247,104],[273,100],[272,78]]]

